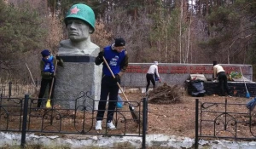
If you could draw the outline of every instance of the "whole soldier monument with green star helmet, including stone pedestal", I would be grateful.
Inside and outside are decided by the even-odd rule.
[[[64,21],[68,39],[61,41],[57,52],[64,67],[56,69],[55,104],[96,109],[94,100],[100,99],[102,66],[94,63],[100,48],[90,41],[90,34],[95,31],[95,14],[86,4],[78,3],[68,9]]]

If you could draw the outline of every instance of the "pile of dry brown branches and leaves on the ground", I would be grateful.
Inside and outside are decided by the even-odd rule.
[[[164,83],[162,86],[153,89],[148,94],[148,103],[152,104],[172,104],[181,101],[183,91],[178,85],[169,86]]]

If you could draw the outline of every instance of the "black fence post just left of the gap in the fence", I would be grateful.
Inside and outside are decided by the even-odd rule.
[[[148,125],[148,99],[144,97],[143,98],[143,146],[142,146],[143,149],[146,148],[147,125]]]

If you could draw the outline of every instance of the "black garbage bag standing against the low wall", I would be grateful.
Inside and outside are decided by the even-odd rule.
[[[201,97],[206,94],[206,90],[204,88],[204,82],[201,80],[193,80],[191,81],[192,91],[191,95],[196,97]]]

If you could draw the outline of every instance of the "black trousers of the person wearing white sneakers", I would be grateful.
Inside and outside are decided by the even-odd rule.
[[[102,121],[104,113],[106,110],[106,103],[108,100],[108,115],[107,122],[113,120],[113,113],[116,107],[116,102],[118,100],[119,86],[116,81],[114,81],[111,76],[102,77],[102,89],[101,89],[101,99],[99,101],[98,112],[96,115],[97,121]],[[109,97],[108,97],[109,96]]]

